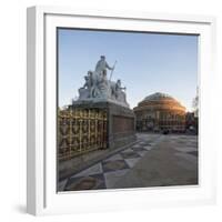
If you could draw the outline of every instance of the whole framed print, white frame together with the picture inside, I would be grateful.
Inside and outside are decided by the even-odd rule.
[[[28,9],[28,212],[212,203],[211,17]]]

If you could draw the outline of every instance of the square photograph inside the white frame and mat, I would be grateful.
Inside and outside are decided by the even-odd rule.
[[[200,184],[199,40],[57,27],[57,192]]]

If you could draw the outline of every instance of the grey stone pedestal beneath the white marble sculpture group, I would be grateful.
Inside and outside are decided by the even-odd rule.
[[[128,107],[110,101],[78,101],[70,105],[70,108],[102,109],[107,111],[107,147],[109,150],[128,145],[137,139],[134,113]]]

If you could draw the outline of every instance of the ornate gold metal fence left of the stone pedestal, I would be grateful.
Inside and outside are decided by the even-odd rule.
[[[69,109],[58,111],[58,154],[60,160],[105,149],[107,110]]]

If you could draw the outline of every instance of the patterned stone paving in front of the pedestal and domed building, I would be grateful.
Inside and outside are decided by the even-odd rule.
[[[139,133],[134,145],[61,181],[59,191],[196,184],[196,137]]]

